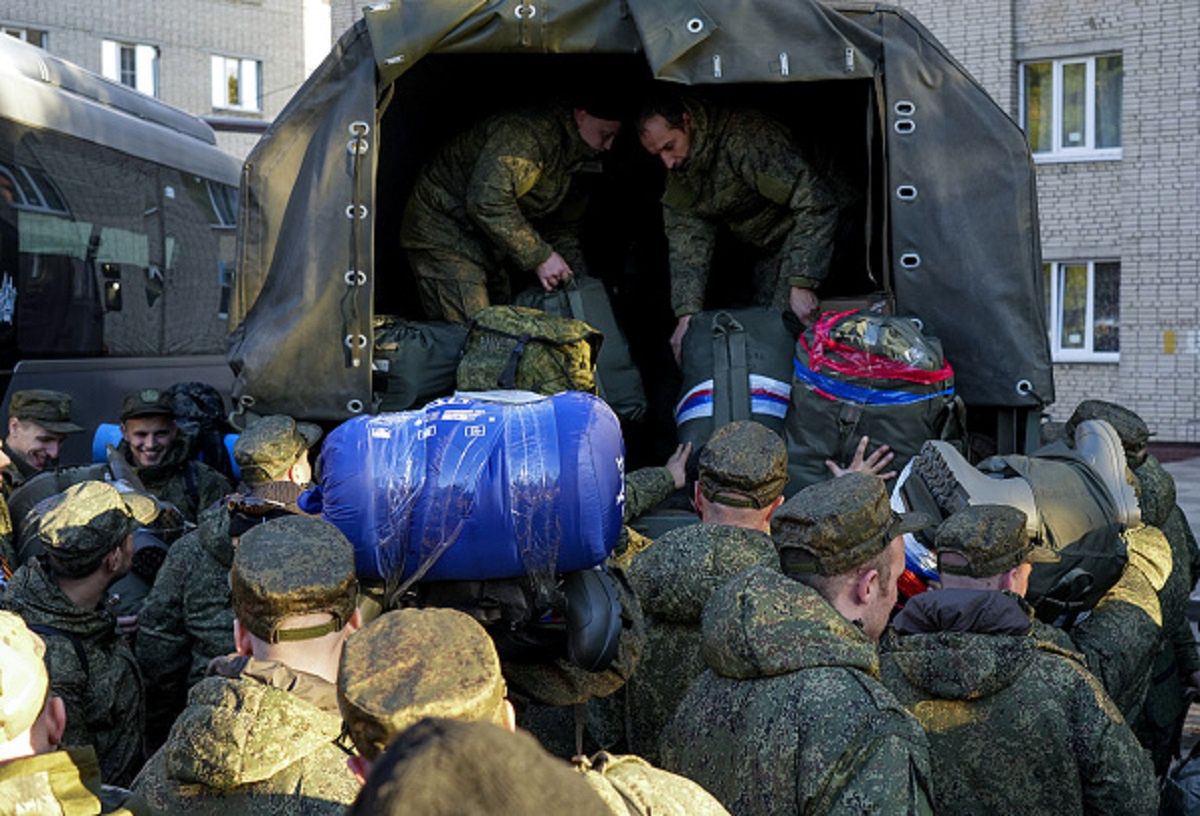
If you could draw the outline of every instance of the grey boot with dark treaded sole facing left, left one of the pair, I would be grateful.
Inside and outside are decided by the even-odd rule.
[[[912,462],[913,474],[925,482],[943,517],[967,505],[1006,504],[1024,512],[1026,530],[1040,538],[1042,520],[1024,479],[992,479],[979,473],[947,442],[926,442]]]

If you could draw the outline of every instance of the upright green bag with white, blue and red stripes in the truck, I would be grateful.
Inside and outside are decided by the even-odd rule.
[[[683,389],[676,403],[679,442],[692,460],[713,431],[752,419],[784,438],[796,335],[784,313],[730,308],[694,314],[683,338]]]

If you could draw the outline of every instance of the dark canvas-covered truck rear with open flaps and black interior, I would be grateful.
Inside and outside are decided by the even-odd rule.
[[[972,424],[1001,451],[1026,448],[1054,380],[1025,136],[912,16],[877,4],[368,6],[247,161],[235,397],[318,420],[371,412],[373,317],[420,317],[396,233],[422,163],[498,109],[654,79],[769,112],[860,191],[822,295],[919,318]],[[592,190],[584,250],[647,383],[668,382],[662,168],[628,130]]]

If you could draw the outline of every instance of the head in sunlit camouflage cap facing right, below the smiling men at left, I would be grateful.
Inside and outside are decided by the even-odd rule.
[[[133,530],[154,523],[158,503],[121,493],[104,481],[82,481],[38,502],[25,518],[56,578],[94,577],[108,586],[133,564]]]

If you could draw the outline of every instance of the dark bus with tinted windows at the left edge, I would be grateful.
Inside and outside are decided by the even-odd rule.
[[[199,119],[0,36],[2,385],[73,394],[85,427],[133,388],[228,391],[239,173]]]

